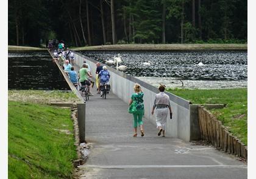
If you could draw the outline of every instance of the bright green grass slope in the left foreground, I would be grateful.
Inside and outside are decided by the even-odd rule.
[[[77,155],[70,109],[9,101],[8,115],[9,178],[72,177]]]

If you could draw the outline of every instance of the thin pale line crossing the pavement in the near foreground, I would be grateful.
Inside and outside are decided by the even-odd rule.
[[[102,166],[102,165],[84,165],[84,168],[100,168],[100,169],[137,169],[137,168],[244,168],[247,165],[117,165],[117,166]]]

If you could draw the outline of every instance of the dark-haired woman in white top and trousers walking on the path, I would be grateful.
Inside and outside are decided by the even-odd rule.
[[[156,107],[157,109],[155,110],[155,121],[157,122],[157,129],[159,129],[157,135],[160,136],[163,131],[163,137],[165,137],[165,127],[168,112],[170,113],[170,118],[172,118],[171,105],[169,96],[165,93],[165,86],[160,85],[158,90],[160,93],[155,95],[154,106],[151,113],[154,115],[154,110]]]

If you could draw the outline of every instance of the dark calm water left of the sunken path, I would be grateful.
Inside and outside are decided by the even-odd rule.
[[[8,53],[8,89],[70,90],[48,52]]]

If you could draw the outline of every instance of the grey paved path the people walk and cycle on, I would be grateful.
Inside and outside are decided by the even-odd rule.
[[[134,138],[128,104],[111,92],[96,94],[86,105],[86,140],[90,154],[80,178],[247,178],[247,166],[213,147],[193,146],[158,137],[155,124],[143,118],[145,136]]]

